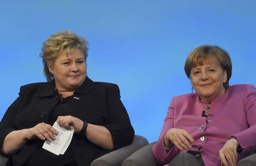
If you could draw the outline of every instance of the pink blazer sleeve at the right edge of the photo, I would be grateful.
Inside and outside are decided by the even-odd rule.
[[[256,145],[256,88],[254,86],[246,86],[243,105],[249,128],[233,135],[237,138],[240,146],[245,149]]]

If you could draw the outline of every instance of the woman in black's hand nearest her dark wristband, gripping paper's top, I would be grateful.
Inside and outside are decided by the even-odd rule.
[[[57,118],[57,123],[61,127],[65,127],[68,130],[70,130],[71,126],[73,126],[75,133],[81,131],[82,126],[84,125],[84,122],[82,120],[73,116],[59,116]]]

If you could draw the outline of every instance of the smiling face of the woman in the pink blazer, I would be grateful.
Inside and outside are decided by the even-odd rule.
[[[196,66],[191,70],[191,84],[204,103],[212,103],[212,100],[224,95],[227,76],[216,59],[208,59],[202,66]]]

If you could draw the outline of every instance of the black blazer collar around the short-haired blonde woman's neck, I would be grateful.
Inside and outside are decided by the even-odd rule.
[[[76,88],[74,93],[85,94],[92,91],[94,86],[94,82],[86,76],[84,82],[81,84],[80,87]],[[54,96],[55,95],[55,82],[51,80],[49,82],[44,83],[42,86],[39,87],[37,96],[40,97],[47,97],[47,96]]]

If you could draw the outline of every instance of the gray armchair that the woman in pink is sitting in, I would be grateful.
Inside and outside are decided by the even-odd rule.
[[[155,143],[156,142],[152,142],[135,151],[123,161],[122,166],[158,166],[151,152],[152,146]],[[255,147],[251,147],[243,150],[240,155],[241,160],[237,163],[237,166],[256,166],[255,149]]]

